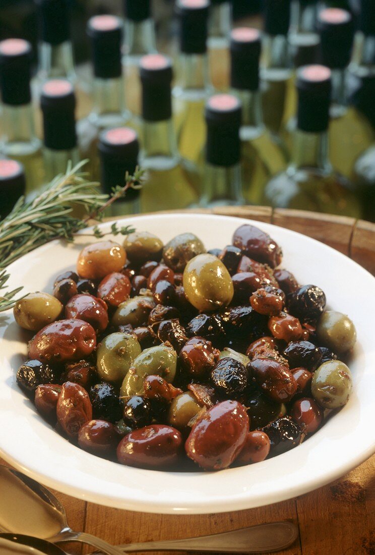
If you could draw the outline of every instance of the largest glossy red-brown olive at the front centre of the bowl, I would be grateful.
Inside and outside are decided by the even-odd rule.
[[[222,401],[194,424],[185,443],[186,454],[204,470],[227,468],[244,447],[248,432],[245,407],[237,401]]]

